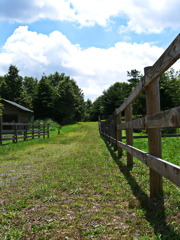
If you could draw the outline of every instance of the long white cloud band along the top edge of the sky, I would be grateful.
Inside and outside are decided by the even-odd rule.
[[[180,27],[179,0],[6,0],[0,2],[0,18],[21,23],[40,19],[70,21],[80,26],[108,27],[111,17],[126,19],[120,30],[160,33]]]

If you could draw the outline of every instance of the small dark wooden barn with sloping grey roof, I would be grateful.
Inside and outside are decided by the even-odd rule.
[[[2,99],[2,121],[15,123],[29,123],[33,118],[33,111],[15,102]]]

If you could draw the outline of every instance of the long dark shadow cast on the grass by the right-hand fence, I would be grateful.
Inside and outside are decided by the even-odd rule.
[[[132,167],[125,166],[108,142],[104,138],[102,139],[104,140],[113,160],[118,165],[119,170],[123,173],[130,185],[134,196],[138,199],[140,208],[145,211],[145,217],[154,229],[155,234],[159,235],[160,239],[180,239],[180,235],[175,233],[173,228],[168,226],[166,222],[163,195],[156,199],[150,199],[149,196],[141,189],[135,178],[131,175],[130,171],[132,170]]]

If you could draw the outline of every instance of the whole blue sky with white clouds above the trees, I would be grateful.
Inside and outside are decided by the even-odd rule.
[[[179,34],[179,0],[0,0],[0,75],[70,75],[96,99],[154,64]],[[175,65],[179,69],[179,62]]]

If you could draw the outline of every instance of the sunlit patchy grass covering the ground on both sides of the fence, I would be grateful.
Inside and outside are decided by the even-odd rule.
[[[164,139],[163,158],[178,164],[179,144]],[[0,239],[180,239],[180,189],[164,179],[150,201],[148,172],[127,168],[97,123],[0,147]]]

